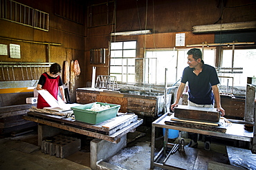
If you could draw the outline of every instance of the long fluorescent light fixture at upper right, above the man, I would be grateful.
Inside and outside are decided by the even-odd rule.
[[[238,30],[255,30],[256,21],[240,22],[240,23],[222,23],[212,25],[196,25],[192,28],[192,32],[206,33],[206,32],[220,32],[220,31],[238,31]]]

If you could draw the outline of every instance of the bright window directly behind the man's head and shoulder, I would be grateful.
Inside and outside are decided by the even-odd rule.
[[[167,83],[181,79],[183,70],[188,66],[188,50],[147,50],[144,62],[144,83],[164,84],[165,68]],[[215,50],[204,50],[203,61],[214,66]]]

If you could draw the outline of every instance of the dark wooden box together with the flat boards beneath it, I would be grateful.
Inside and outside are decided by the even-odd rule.
[[[175,107],[171,120],[165,121],[165,124],[222,133],[226,132],[224,120],[220,118],[219,111],[216,108],[179,105]]]

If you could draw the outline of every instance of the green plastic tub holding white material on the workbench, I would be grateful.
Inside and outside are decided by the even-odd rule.
[[[86,109],[91,109],[91,107],[93,107],[94,103],[71,107],[71,109],[73,109],[73,112],[75,115],[75,120],[95,125],[97,123],[101,123],[110,118],[116,117],[116,114],[118,113],[118,110],[120,109],[120,105],[113,105],[113,104],[109,104],[109,103],[100,103],[100,102],[95,102],[95,103],[100,104],[100,106],[109,105],[110,108],[104,109],[102,111],[86,110]]]

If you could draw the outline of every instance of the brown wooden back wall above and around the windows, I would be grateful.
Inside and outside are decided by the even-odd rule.
[[[106,1],[90,1],[88,6],[103,2]],[[109,47],[110,41],[135,40],[137,41],[137,57],[143,57],[145,48],[175,47],[176,33],[185,33],[185,45],[214,43],[215,34],[193,34],[192,27],[214,23],[255,21],[255,10],[256,3],[253,0],[117,0],[116,15],[113,16],[116,17],[116,21],[113,25],[86,28],[86,56],[89,56],[90,49]],[[110,36],[111,32],[145,29],[152,29],[153,34]],[[86,57],[86,63],[88,63],[86,73],[88,74],[85,80],[91,80],[93,66],[97,67],[96,75],[107,75],[109,73],[108,59],[109,56],[107,56],[106,64],[92,65],[89,63],[89,57]]]

